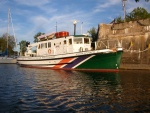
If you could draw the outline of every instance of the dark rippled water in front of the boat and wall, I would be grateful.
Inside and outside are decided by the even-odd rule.
[[[0,64],[0,113],[150,112],[150,71],[94,73]]]

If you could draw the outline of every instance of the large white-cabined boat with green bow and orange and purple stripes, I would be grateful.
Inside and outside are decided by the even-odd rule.
[[[93,49],[90,36],[69,35],[67,31],[41,35],[38,40],[28,43],[25,56],[17,58],[20,66],[78,71],[119,70],[122,47]]]

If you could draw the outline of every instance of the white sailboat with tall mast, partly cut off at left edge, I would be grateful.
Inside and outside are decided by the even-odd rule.
[[[8,10],[8,28],[7,28],[8,29],[7,30],[7,48],[4,52],[0,49],[0,64],[15,64],[15,63],[17,63],[16,55],[11,56],[11,57],[8,56],[8,37],[9,37],[10,19],[11,19],[11,14],[10,14],[10,9],[9,9]],[[11,20],[11,22],[12,22],[12,20]],[[12,27],[13,27],[13,25],[12,25]],[[13,29],[13,32],[14,32],[14,29]],[[14,35],[14,38],[15,38],[15,35]]]

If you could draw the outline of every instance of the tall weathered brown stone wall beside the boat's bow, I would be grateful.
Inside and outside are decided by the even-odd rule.
[[[99,24],[97,49],[102,48],[101,42],[108,39],[121,42],[124,48],[122,63],[150,64],[150,18],[124,23]],[[116,45],[112,44],[109,47]]]

